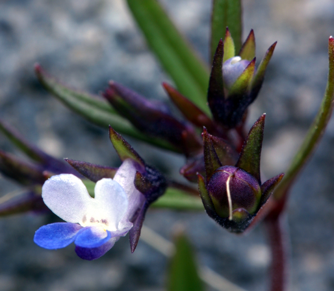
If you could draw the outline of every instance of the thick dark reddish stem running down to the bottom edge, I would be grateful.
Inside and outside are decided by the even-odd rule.
[[[277,215],[266,219],[266,228],[271,248],[271,282],[270,291],[284,291],[287,283],[287,234],[286,217]]]

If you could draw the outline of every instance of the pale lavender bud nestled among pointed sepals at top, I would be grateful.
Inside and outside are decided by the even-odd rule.
[[[234,82],[244,72],[250,62],[250,60],[234,56],[222,64],[222,78],[224,79],[224,85],[227,90],[232,87]]]

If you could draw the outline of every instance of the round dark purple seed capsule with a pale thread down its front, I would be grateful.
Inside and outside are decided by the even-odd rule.
[[[224,166],[218,168],[210,178],[208,193],[216,213],[221,218],[233,219],[233,211],[239,208],[249,214],[256,212],[261,200],[258,181],[243,169]]]

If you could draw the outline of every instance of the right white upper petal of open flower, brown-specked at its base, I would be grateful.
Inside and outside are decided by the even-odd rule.
[[[127,196],[121,185],[113,179],[102,179],[95,185],[95,198],[87,211],[87,223],[102,223],[106,230],[117,231],[126,215]]]

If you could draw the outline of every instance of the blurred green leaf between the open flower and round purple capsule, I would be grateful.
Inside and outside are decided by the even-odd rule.
[[[169,208],[176,210],[204,210],[199,195],[190,195],[188,192],[169,187],[166,192],[150,207]]]

